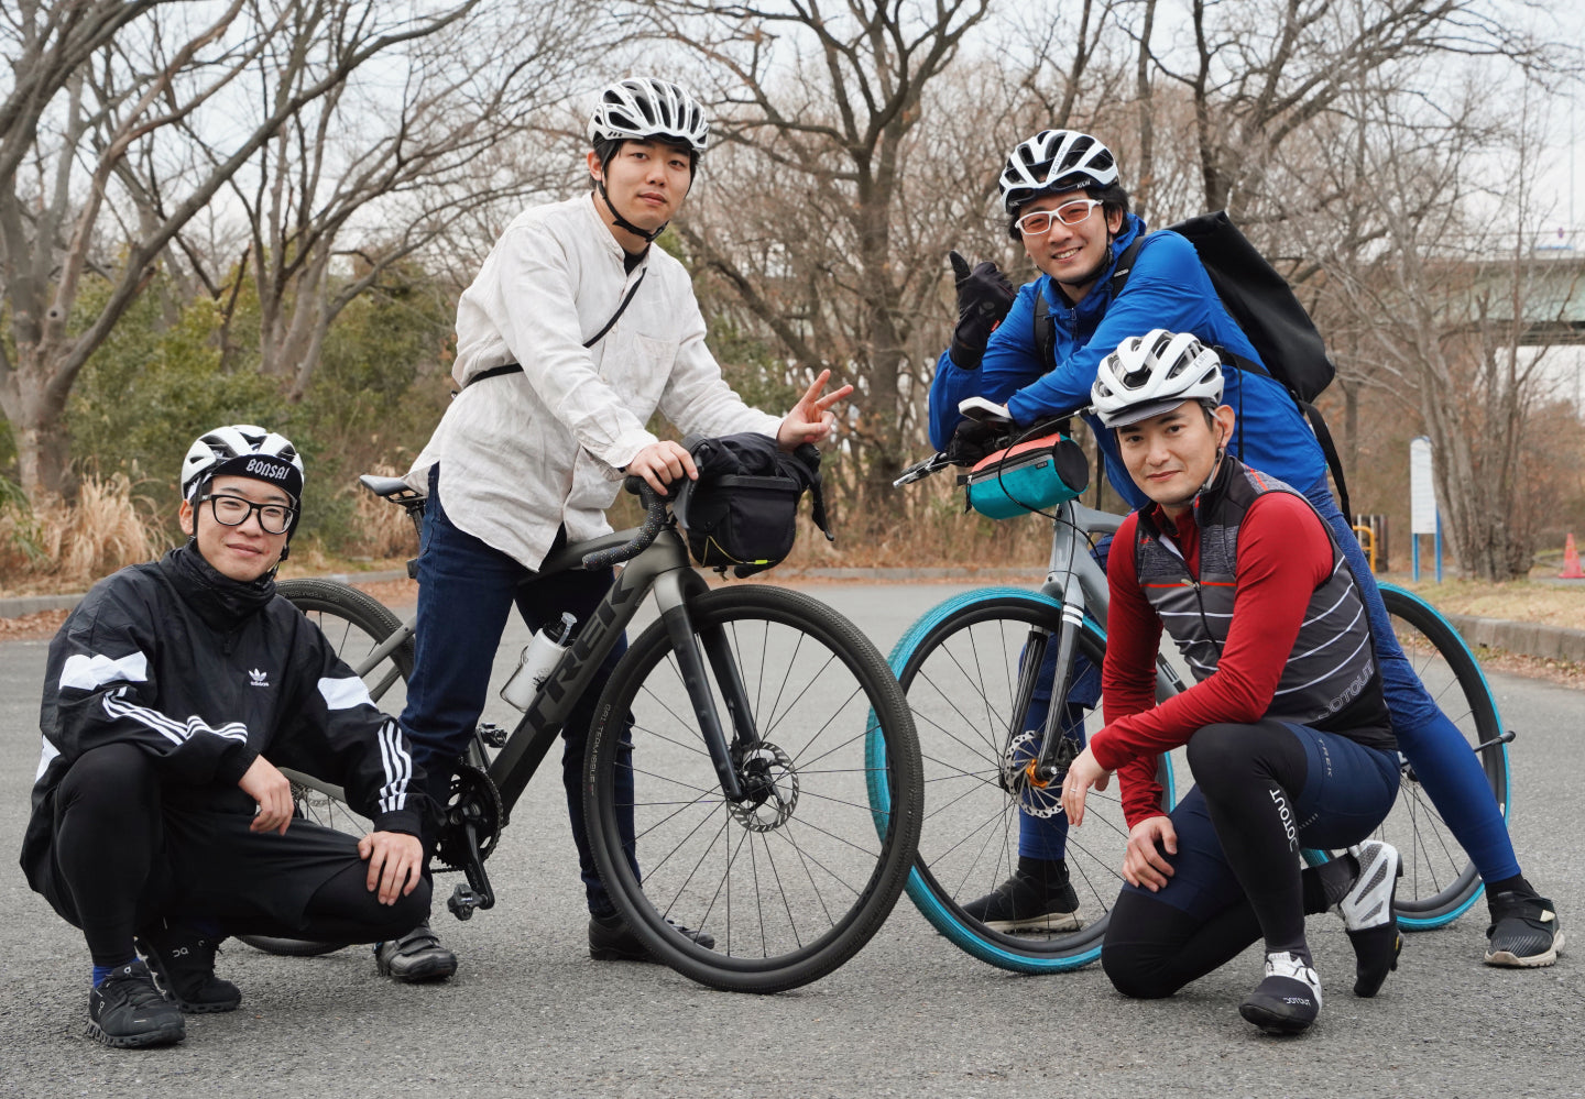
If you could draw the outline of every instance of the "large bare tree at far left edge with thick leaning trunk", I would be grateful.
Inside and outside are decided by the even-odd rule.
[[[30,496],[70,491],[67,397],[176,234],[306,105],[476,5],[407,14],[376,0],[19,0],[6,10],[14,82],[0,105],[0,291],[11,339],[0,342],[0,409]],[[285,65],[274,74],[282,90],[250,116],[238,81],[266,51]],[[192,166],[181,136],[193,130],[216,135],[219,155],[160,206],[128,200],[132,165]],[[90,307],[86,279],[106,287]]]

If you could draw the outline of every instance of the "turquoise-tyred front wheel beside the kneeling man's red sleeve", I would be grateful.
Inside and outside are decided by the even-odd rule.
[[[1056,648],[1060,627],[1062,607],[1046,595],[991,588],[935,607],[892,651],[892,668],[919,728],[929,790],[908,896],[951,942],[1016,972],[1060,972],[1098,958],[1124,884],[1129,825],[1113,784],[1090,792],[1084,827],[1065,835],[1068,880],[1078,896],[1067,926],[995,930],[965,911],[1011,876],[1025,822],[1043,830],[1065,827],[1059,784],[1032,790],[1005,781],[1014,770],[1010,763],[1038,751],[1038,728],[1032,725],[1040,722],[1030,721],[1029,678],[1040,667],[1040,654]],[[1092,622],[1078,637],[1078,652],[1098,675],[1105,638]],[[1084,700],[1075,690],[1070,703],[1067,728],[1083,722],[1084,733],[1092,733],[1102,727],[1098,686]],[[1167,798],[1163,808],[1171,808],[1167,755],[1157,765],[1157,781]],[[1057,835],[1056,842],[1064,844]]]

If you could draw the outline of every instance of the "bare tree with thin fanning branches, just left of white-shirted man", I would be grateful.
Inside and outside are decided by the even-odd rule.
[[[566,165],[536,155],[531,139],[604,46],[599,25],[585,0],[476,10],[295,112],[231,179],[250,230],[260,369],[290,399],[307,391],[341,310],[393,266],[480,209],[563,182]],[[274,49],[255,62],[262,97],[292,93],[271,84],[287,68]]]

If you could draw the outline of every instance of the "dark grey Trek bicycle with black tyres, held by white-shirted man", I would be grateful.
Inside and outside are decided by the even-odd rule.
[[[423,497],[365,477],[418,523]],[[458,869],[458,918],[496,903],[487,861],[572,703],[645,597],[659,616],[601,689],[585,757],[586,825],[623,920],[659,960],[713,988],[773,993],[816,980],[869,942],[902,893],[919,838],[922,770],[913,717],[875,646],[831,607],[769,584],[712,591],[689,564],[669,500],[639,478],[634,530],[567,546],[540,575],[626,562],[510,732],[476,730],[445,806],[436,869]],[[414,621],[323,580],[279,584],[363,676],[401,708]],[[290,774],[298,808],[361,831],[341,790]],[[877,808],[875,790],[886,790]],[[631,793],[623,793],[631,790]],[[617,819],[631,798],[642,877]],[[705,928],[713,947],[675,925]],[[249,939],[285,953],[334,944]]]

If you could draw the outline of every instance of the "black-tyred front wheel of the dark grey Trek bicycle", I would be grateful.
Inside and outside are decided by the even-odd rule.
[[[875,646],[824,603],[731,588],[691,599],[688,616],[701,648],[729,654],[707,660],[708,689],[750,797],[723,793],[672,638],[655,622],[612,673],[590,733],[594,858],[656,958],[712,988],[796,988],[851,958],[902,893],[922,800],[913,719]],[[731,676],[740,686],[723,690]],[[731,714],[728,697],[750,713]],[[732,738],[748,722],[758,743]],[[872,735],[884,811],[869,803]],[[629,814],[642,877],[624,850]]]

